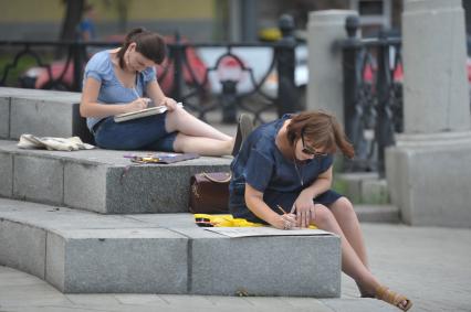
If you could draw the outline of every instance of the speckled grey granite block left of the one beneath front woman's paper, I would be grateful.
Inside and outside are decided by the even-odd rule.
[[[64,273],[49,263],[48,271],[51,280],[63,281],[55,286],[64,292],[186,292],[186,237],[159,228],[67,230],[61,236],[64,255],[62,245],[48,241],[48,257],[63,256]]]

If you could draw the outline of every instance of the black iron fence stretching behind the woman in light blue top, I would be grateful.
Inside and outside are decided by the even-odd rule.
[[[185,103],[201,119],[208,111],[219,109],[223,122],[234,122],[237,110],[242,109],[253,114],[259,122],[264,122],[264,111],[276,110],[281,116],[301,110],[294,82],[294,24],[290,18],[283,17],[280,28],[283,37],[275,43],[188,43],[176,35],[168,43],[167,60],[157,68],[160,86],[167,95]],[[90,51],[119,45],[118,42],[0,41],[0,54],[13,52],[11,60],[0,68],[0,86],[9,86],[7,82],[12,69],[19,66],[22,58],[32,57],[39,69],[10,86],[80,92],[83,69],[92,55]],[[57,50],[65,52],[66,57],[52,63],[44,61],[41,51],[52,54]],[[199,55],[203,51],[217,51],[219,54],[208,63]],[[249,56],[241,55],[240,51]],[[266,66],[263,69],[249,64],[247,57],[251,57],[251,51],[257,51],[258,55],[264,51],[261,61]]]

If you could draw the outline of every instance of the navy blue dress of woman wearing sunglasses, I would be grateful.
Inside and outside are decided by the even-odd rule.
[[[264,223],[245,205],[245,183],[263,193],[263,201],[276,213],[276,205],[290,212],[301,191],[308,187],[317,176],[328,170],[333,154],[316,157],[295,165],[286,159],[275,144],[275,138],[290,115],[257,128],[247,138],[240,152],[231,163],[232,180],[229,185],[229,208],[234,217]],[[314,198],[315,203],[329,205],[342,195],[327,191]]]

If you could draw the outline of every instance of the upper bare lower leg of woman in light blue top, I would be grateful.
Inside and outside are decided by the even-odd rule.
[[[212,126],[199,120],[181,107],[167,114],[165,128],[168,132],[178,131],[190,137],[209,138],[221,141],[232,141],[233,138],[222,133]]]

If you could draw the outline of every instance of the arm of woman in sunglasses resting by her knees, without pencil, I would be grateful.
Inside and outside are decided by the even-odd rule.
[[[294,209],[296,211],[297,226],[307,227],[311,219],[314,218],[315,211],[313,200],[318,194],[331,190],[333,176],[332,168],[333,166],[331,165],[326,171],[321,173],[310,186],[300,193],[296,201],[294,202],[291,212],[293,213]]]

